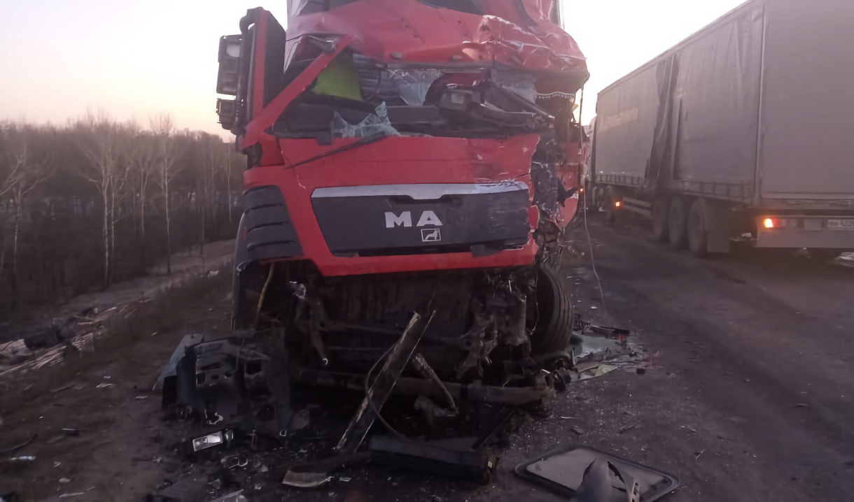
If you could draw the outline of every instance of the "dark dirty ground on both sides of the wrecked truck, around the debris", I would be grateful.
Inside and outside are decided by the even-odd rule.
[[[672,502],[854,499],[854,269],[762,251],[700,260],[652,243],[643,228],[611,228],[597,219],[589,231],[588,244],[584,228],[576,229],[573,246],[585,256],[564,266],[577,310],[635,332],[654,366],[570,385],[549,405],[550,417],[521,426],[488,485],[381,466],[347,468],[319,489],[283,487],[277,465],[261,473],[250,464],[228,476],[247,488],[250,502],[555,500],[512,469],[576,442],[675,474],[682,486],[666,499]],[[210,294],[187,303],[173,328],[69,382],[85,387],[7,409],[0,442],[38,434],[15,453],[37,460],[0,473],[0,493],[138,500],[164,479],[208,471],[167,451],[170,425],[149,389],[185,333],[228,332],[226,282],[211,283]],[[99,388],[102,382],[114,385]],[[50,439],[67,427],[79,436]]]

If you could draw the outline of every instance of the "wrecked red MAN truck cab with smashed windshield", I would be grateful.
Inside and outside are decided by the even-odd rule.
[[[219,120],[248,158],[235,328],[284,333],[290,377],[310,384],[364,375],[413,312],[442,381],[503,386],[563,351],[572,308],[554,266],[588,72],[559,3],[301,0],[288,14],[286,33],[251,9],[220,40],[218,91],[235,97]]]

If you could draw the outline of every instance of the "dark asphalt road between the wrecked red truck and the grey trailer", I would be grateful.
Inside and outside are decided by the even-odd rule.
[[[700,260],[642,228],[589,230],[604,304],[592,268],[571,268],[580,310],[634,330],[658,369],[576,384],[557,405],[570,419],[529,441],[576,422],[578,441],[679,476],[674,501],[854,499],[854,269],[760,250]]]

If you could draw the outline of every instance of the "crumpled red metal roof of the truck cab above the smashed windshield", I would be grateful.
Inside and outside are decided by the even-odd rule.
[[[386,62],[500,62],[532,71],[587,72],[570,35],[547,18],[550,0],[483,0],[490,15],[416,0],[360,0],[288,20],[288,38],[353,35],[351,47]],[[524,12],[520,9],[524,9]]]

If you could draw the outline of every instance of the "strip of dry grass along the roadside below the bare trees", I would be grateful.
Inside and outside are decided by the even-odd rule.
[[[67,384],[93,366],[107,364],[115,356],[152,333],[171,332],[180,327],[188,311],[221,299],[231,285],[231,263],[213,275],[196,277],[172,286],[161,295],[126,315],[114,315],[107,321],[104,334],[93,340],[91,349],[56,366],[20,375],[18,388],[0,393],[0,413],[26,405],[50,389]]]

